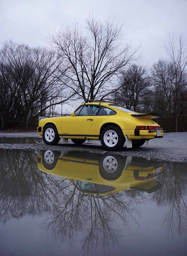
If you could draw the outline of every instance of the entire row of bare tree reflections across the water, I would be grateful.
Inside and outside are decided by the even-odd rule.
[[[134,222],[138,227],[142,208],[153,201],[167,208],[163,227],[166,225],[168,233],[182,235],[186,229],[186,164],[163,162],[164,171],[156,178],[162,187],[152,194],[126,190],[102,196],[84,194],[68,179],[39,171],[38,152],[1,150],[0,155],[1,222],[42,216],[40,227],[70,246],[82,232],[81,248],[89,255],[118,245],[121,224],[128,229]]]

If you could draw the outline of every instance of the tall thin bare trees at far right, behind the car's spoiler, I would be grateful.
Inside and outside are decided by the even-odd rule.
[[[167,131],[174,131],[176,120],[171,117],[187,113],[187,45],[181,35],[177,38],[172,34],[164,47],[168,59],[160,59],[152,68],[155,94],[153,108],[167,117],[167,120],[161,122]],[[180,120],[180,130],[185,131],[187,118],[181,117]]]

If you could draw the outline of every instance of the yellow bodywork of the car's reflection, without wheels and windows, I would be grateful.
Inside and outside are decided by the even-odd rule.
[[[76,154],[76,153],[74,153]],[[84,153],[82,153],[83,155]],[[130,189],[133,187],[137,187],[143,183],[150,183],[156,176],[156,171],[159,170],[159,174],[162,172],[162,165],[157,163],[156,165],[150,165],[147,167],[141,167],[139,164],[134,165],[130,164],[125,168],[124,167],[121,172],[121,175],[115,180],[105,179],[101,176],[99,171],[99,160],[95,159],[87,159],[86,157],[70,157],[68,155],[64,155],[62,157],[58,157],[57,164],[52,170],[48,170],[44,166],[44,158],[42,154],[38,155],[38,169],[47,172],[53,175],[61,176],[70,180],[72,184],[74,180],[89,182],[94,184],[101,184],[105,186],[112,186],[115,189],[113,191],[109,191],[106,193],[97,193],[97,194],[111,194],[117,191]],[[134,171],[139,173],[141,180],[138,180],[137,177],[134,176]],[[157,184],[157,183],[156,183]],[[147,185],[147,188],[154,187],[155,183],[150,183]],[[86,192],[89,194],[89,192]],[[94,194],[94,193],[90,193]],[[96,193],[95,193],[96,194]]]

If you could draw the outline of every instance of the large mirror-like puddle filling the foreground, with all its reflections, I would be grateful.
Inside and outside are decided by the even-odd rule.
[[[187,164],[0,150],[0,255],[186,255]]]

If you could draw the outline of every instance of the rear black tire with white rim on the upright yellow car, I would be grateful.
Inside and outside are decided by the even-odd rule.
[[[106,126],[101,131],[100,138],[102,146],[107,150],[121,150],[125,143],[125,138],[122,130],[114,125]]]

